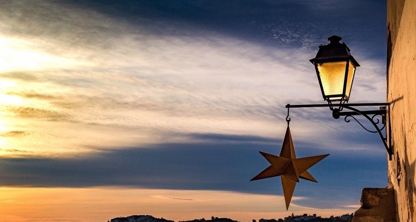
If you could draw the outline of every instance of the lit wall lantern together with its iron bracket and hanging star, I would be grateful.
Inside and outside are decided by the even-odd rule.
[[[321,87],[322,97],[328,104],[309,104],[309,105],[286,105],[288,108],[288,115],[286,121],[288,128],[286,130],[285,139],[283,141],[282,150],[279,154],[273,155],[270,153],[260,152],[264,158],[270,163],[270,166],[261,171],[257,176],[251,180],[265,179],[269,177],[281,176],[283,194],[285,196],[286,210],[289,208],[290,201],[293,196],[296,183],[299,178],[317,182],[317,180],[307,172],[311,166],[315,165],[329,154],[308,156],[303,158],[296,158],[295,149],[293,147],[292,136],[289,129],[289,110],[290,108],[300,107],[329,107],[332,110],[332,117],[338,119],[340,116],[345,116],[345,122],[350,122],[348,117],[355,119],[366,131],[370,133],[378,133],[389,153],[389,158],[392,160],[392,146],[387,144],[387,138],[383,136],[382,130],[386,128],[387,108],[390,109],[389,103],[356,103],[349,104],[351,88],[353,85],[355,70],[360,65],[351,55],[350,49],[345,43],[339,43],[341,37],[331,36],[328,38],[330,43],[328,45],[321,45],[319,47],[317,56],[310,59],[314,64],[317,72],[319,85]],[[333,104],[339,102],[339,104]],[[359,110],[356,107],[371,107],[379,106],[378,110]],[[337,108],[334,108],[337,107]],[[349,109],[349,112],[342,112],[343,109]],[[371,122],[374,130],[368,130],[361,124],[355,115],[362,115]],[[371,116],[371,117],[370,117]],[[380,122],[376,116],[381,116]],[[377,124],[383,124],[379,128]],[[390,123],[388,133],[391,134]],[[390,137],[391,138],[391,137]]]

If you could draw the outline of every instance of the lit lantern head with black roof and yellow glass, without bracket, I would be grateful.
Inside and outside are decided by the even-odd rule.
[[[329,104],[348,102],[355,70],[360,66],[340,40],[339,36],[329,37],[330,43],[319,46],[316,57],[309,60],[315,65],[322,96]]]

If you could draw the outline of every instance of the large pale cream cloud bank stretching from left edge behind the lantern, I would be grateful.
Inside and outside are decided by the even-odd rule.
[[[316,48],[270,47],[205,26],[195,32],[195,26],[178,27],[167,20],[161,25],[170,28],[159,33],[153,24],[162,20],[123,20],[71,4],[42,2],[33,8],[8,4],[3,10],[16,11],[2,20],[7,30],[3,39],[25,43],[20,51],[77,61],[62,67],[46,60],[39,69],[0,73],[4,80],[14,82],[3,93],[21,100],[17,105],[5,104],[8,117],[16,122],[10,122],[5,131],[31,132],[24,143],[9,140],[14,149],[42,144],[45,147],[32,151],[66,155],[109,147],[216,140],[215,135],[272,141],[286,128],[285,104],[322,101],[308,62]],[[29,9],[33,10],[29,13]],[[42,17],[45,11],[47,18]],[[19,23],[19,13],[29,13],[30,19],[24,20],[28,23]],[[269,24],[265,29],[287,32],[282,38],[325,43],[314,31],[306,31],[314,24],[296,20]],[[384,101],[385,82],[379,80],[384,61],[357,56],[362,68],[354,82],[354,102]],[[358,99],[360,94],[366,97]],[[332,144],[355,138],[361,143],[353,144],[353,149],[377,146],[359,134],[349,133],[350,138],[345,138],[341,130],[348,126],[332,123],[330,111],[324,114],[322,109],[291,109],[291,126],[299,143],[342,149]],[[319,135],[327,135],[327,143]]]

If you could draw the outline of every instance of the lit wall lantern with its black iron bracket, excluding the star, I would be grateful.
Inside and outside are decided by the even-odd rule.
[[[338,119],[340,116],[345,116],[344,121],[350,122],[348,117],[355,119],[366,131],[370,133],[378,133],[389,153],[389,159],[392,160],[392,145],[389,141],[387,144],[387,137],[382,133],[382,130],[386,128],[387,110],[390,109],[389,103],[348,103],[350,100],[351,88],[353,85],[354,75],[356,68],[360,65],[351,55],[350,49],[345,43],[339,43],[341,37],[331,36],[328,38],[330,43],[328,45],[319,46],[318,53],[315,58],[310,59],[315,66],[315,70],[318,76],[319,85],[321,87],[322,97],[328,104],[308,104],[308,105],[286,105],[288,108],[288,116],[286,121],[290,121],[289,109],[301,108],[301,107],[329,107],[332,110],[332,116]],[[339,102],[335,105],[333,102]],[[334,108],[334,107],[337,108]],[[378,106],[378,110],[359,110],[356,107],[371,107]],[[342,112],[343,109],[349,109],[352,111]],[[362,115],[371,122],[374,126],[374,130],[368,130],[363,124],[361,124],[354,116]],[[376,116],[380,116],[382,121],[380,122]],[[379,127],[378,124],[382,124]],[[386,134],[391,135],[390,124],[388,124]],[[391,137],[390,137],[391,138]]]

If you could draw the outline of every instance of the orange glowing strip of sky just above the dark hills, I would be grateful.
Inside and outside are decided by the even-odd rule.
[[[352,211],[354,209],[313,209],[295,204],[286,211],[282,196],[225,191],[0,187],[2,221],[95,222],[130,215],[152,215],[175,221],[210,219],[211,216],[251,221],[283,218],[292,212],[329,217]]]

